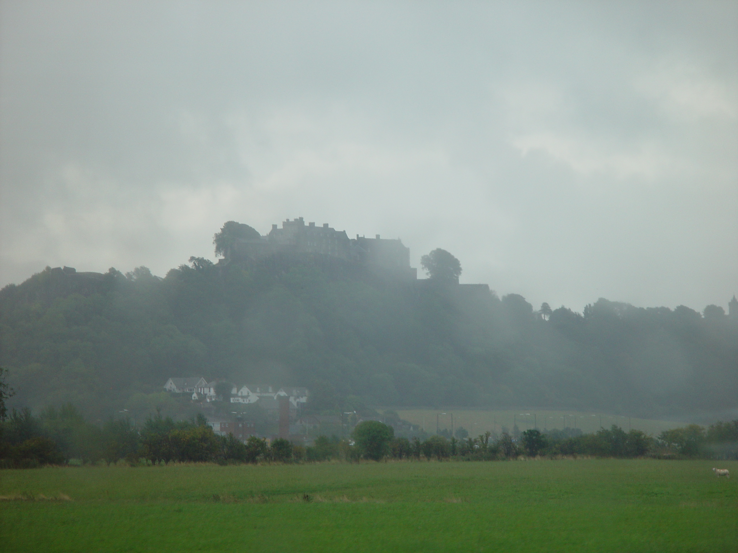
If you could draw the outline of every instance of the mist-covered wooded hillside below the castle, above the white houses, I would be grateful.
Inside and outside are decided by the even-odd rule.
[[[379,239],[379,238],[378,238]],[[738,406],[738,316],[599,299],[534,310],[486,286],[399,279],[314,253],[165,278],[46,268],[0,291],[13,405],[97,417],[169,377],[306,386],[319,411],[537,406],[658,417]]]

